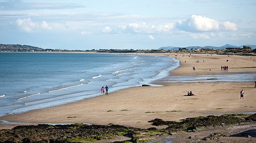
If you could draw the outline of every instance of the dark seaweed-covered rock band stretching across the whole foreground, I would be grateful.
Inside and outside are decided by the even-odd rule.
[[[0,130],[0,143],[78,143],[102,139],[115,139],[118,136],[129,137],[130,142],[148,142],[155,140],[157,137],[171,135],[174,132],[197,132],[201,129],[217,126],[222,127],[223,124],[234,125],[254,122],[255,116],[256,114],[248,117],[232,114],[186,118],[182,119],[180,122],[163,121],[157,118],[149,121],[152,125],[156,126],[167,125],[164,129],[157,129],[155,127],[139,129],[122,125],[86,125],[82,123],[71,125],[19,125],[13,129]],[[244,137],[255,137],[255,130],[245,131],[240,134]],[[240,134],[232,136],[238,136]],[[223,136],[226,135],[219,133],[212,134],[203,140],[218,139]],[[192,139],[192,137],[189,138]]]

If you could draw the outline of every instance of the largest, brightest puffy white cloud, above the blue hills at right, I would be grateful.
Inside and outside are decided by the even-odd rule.
[[[236,31],[238,29],[235,23],[229,21],[218,22],[198,15],[192,15],[187,20],[179,21],[175,26],[178,29],[191,32]]]

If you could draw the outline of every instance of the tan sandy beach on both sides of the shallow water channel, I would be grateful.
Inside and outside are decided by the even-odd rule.
[[[152,55],[172,56],[181,61],[180,67],[170,71],[171,75],[256,73],[256,57],[166,53]],[[193,66],[196,67],[196,71],[192,70]],[[228,71],[221,71],[221,66],[228,66]],[[178,121],[188,117],[220,115],[220,112],[256,112],[254,81],[155,84],[164,86],[139,86],[117,92],[111,92],[110,88],[109,95],[22,114],[11,114],[0,117],[0,120],[35,124],[113,123],[146,129],[155,127],[147,122],[155,118]],[[245,93],[244,99],[240,99],[242,89]],[[192,91],[196,96],[184,96],[187,91]],[[16,125],[2,124],[0,129]]]

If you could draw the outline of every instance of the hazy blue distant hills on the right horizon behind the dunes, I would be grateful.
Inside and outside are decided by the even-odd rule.
[[[164,50],[178,50],[178,49],[182,49],[182,48],[185,48],[185,49],[226,49],[226,48],[243,48],[243,46],[249,46],[251,47],[252,49],[256,49],[256,45],[241,45],[241,46],[235,46],[235,45],[230,45],[230,44],[226,44],[226,45],[223,45],[223,46],[220,46],[220,47],[214,47],[214,46],[204,46],[204,47],[201,47],[201,46],[189,46],[189,47],[172,47],[172,46],[167,46],[167,47],[160,47],[158,49],[164,49]]]

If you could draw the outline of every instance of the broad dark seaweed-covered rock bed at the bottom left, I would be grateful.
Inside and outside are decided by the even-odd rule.
[[[141,129],[121,125],[20,125],[0,131],[0,143],[68,143],[111,139]]]

